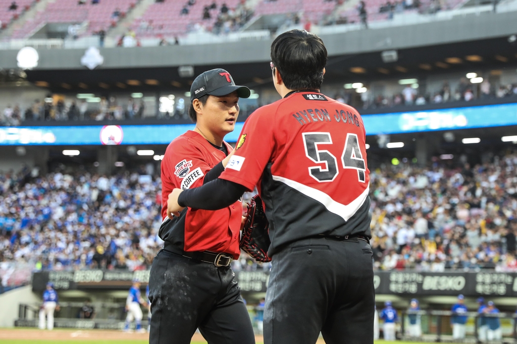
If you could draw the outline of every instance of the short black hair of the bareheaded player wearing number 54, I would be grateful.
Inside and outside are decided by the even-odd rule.
[[[327,64],[327,49],[320,37],[306,30],[294,29],[273,41],[271,62],[278,68],[288,89],[320,89]]]

